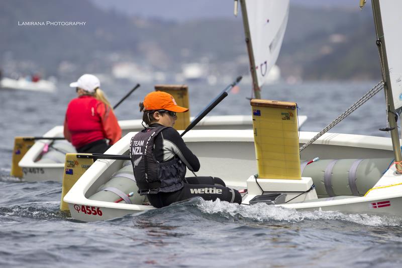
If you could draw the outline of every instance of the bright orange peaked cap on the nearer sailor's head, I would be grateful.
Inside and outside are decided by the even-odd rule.
[[[176,113],[188,111],[188,108],[178,106],[173,96],[163,91],[154,91],[145,96],[144,109],[145,111],[167,110]]]

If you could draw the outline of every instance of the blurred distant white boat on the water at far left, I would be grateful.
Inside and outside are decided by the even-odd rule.
[[[0,88],[7,88],[10,90],[54,92],[56,90],[56,85],[54,82],[48,80],[39,80],[37,82],[33,82],[24,78],[16,80],[5,77],[0,81]]]

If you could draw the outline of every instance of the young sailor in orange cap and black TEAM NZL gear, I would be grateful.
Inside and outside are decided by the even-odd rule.
[[[237,190],[227,188],[218,177],[185,177],[186,167],[199,170],[198,158],[187,148],[179,133],[172,128],[176,113],[188,109],[176,104],[165,92],[148,94],[140,103],[147,127],[137,133],[130,144],[131,162],[140,195],[161,208],[191,197],[240,204]]]

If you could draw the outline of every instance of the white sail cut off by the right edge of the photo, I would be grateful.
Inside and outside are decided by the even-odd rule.
[[[395,110],[402,107],[402,1],[382,0],[379,2],[389,80]],[[395,12],[399,11],[399,12]]]

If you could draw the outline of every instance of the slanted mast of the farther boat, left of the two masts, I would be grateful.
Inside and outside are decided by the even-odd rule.
[[[260,90],[260,87],[258,86],[257,73],[255,70],[255,59],[254,59],[254,53],[253,53],[253,46],[251,44],[250,25],[248,23],[248,17],[247,17],[246,0],[240,0],[240,6],[242,9],[243,26],[244,26],[244,34],[246,36],[247,52],[248,52],[248,57],[250,60],[250,72],[251,72],[251,77],[253,79],[254,97],[256,99],[261,99],[261,94],[260,94],[261,90]]]

